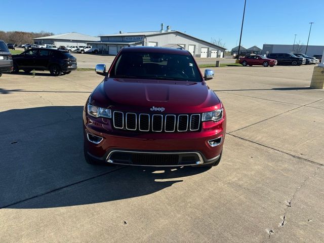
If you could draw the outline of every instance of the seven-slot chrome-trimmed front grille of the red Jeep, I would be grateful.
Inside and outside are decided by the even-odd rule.
[[[137,114],[113,112],[113,127],[140,132],[189,132],[200,129],[200,114]]]

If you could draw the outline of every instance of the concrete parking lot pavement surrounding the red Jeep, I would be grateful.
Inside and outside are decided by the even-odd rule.
[[[88,165],[82,109],[102,76],[4,74],[0,242],[323,242],[313,66],[214,70],[227,135],[211,169]]]

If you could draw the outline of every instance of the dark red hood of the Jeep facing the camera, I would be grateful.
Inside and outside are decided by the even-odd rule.
[[[91,104],[145,113],[153,106],[167,113],[200,113],[221,106],[205,82],[123,78],[105,78],[92,93]]]

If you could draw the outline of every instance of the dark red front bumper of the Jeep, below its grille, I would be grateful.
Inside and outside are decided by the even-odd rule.
[[[141,133],[115,130],[111,119],[94,118],[84,110],[84,141],[85,150],[89,156],[112,164],[144,165],[144,166],[184,166],[207,165],[217,160],[222,152],[226,114],[217,123],[205,121],[198,132],[177,133]],[[89,134],[102,139],[90,141]],[[219,139],[216,146],[209,141]],[[113,157],[114,154],[128,154],[122,158]],[[136,155],[133,155],[136,154]],[[152,163],[141,163],[141,155],[152,158]],[[175,156],[171,156],[176,155]],[[168,156],[166,156],[168,155]],[[170,156],[169,156],[170,155]],[[185,156],[183,156],[185,155]],[[137,162],[134,162],[136,158]],[[190,157],[190,158],[189,158]],[[144,158],[144,157],[142,157]],[[164,164],[165,158],[166,164]],[[168,163],[169,160],[173,162]]]

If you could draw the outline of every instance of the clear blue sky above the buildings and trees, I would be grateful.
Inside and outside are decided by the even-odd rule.
[[[159,30],[160,23],[231,49],[238,45],[244,0],[231,1],[1,0],[0,30],[80,32],[89,35]],[[27,7],[25,8],[24,6]],[[8,11],[4,11],[7,9]],[[12,12],[11,12],[12,11]],[[323,0],[247,0],[241,45],[324,45]]]

